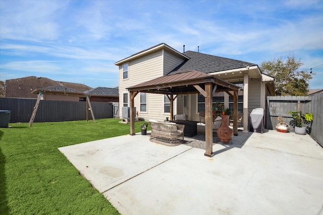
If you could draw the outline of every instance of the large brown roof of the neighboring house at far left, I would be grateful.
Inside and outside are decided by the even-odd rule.
[[[54,81],[44,77],[29,76],[19,79],[6,80],[7,98],[37,98],[37,95],[31,92],[35,89],[46,88],[50,86],[62,86],[75,90],[86,91],[92,89],[89,86],[70,82]]]

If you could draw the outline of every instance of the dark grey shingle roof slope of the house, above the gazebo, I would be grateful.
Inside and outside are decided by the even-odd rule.
[[[197,70],[201,71],[202,73],[214,73],[217,71],[243,68],[247,65],[257,65],[246,61],[203,54],[195,51],[186,51],[183,54],[188,56],[190,59],[184,61],[179,66],[174,68],[168,75],[177,74],[178,71],[182,70]]]

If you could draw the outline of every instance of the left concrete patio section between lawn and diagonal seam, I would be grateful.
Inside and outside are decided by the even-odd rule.
[[[185,145],[167,147],[152,143],[148,135],[124,135],[59,148],[100,192],[189,149]]]

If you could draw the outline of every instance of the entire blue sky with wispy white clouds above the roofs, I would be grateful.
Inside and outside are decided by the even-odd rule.
[[[0,0],[2,81],[117,87],[114,63],[159,43],[259,65],[295,56],[323,89],[323,1]]]

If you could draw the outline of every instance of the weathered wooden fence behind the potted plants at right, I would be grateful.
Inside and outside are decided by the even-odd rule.
[[[323,144],[323,93],[313,96],[267,96],[266,128],[276,129],[277,117],[282,116],[284,122],[289,123],[293,117],[287,114],[289,111],[298,111],[298,105],[302,113],[313,113],[314,120],[310,124],[310,135]],[[293,127],[290,131],[294,131]]]

